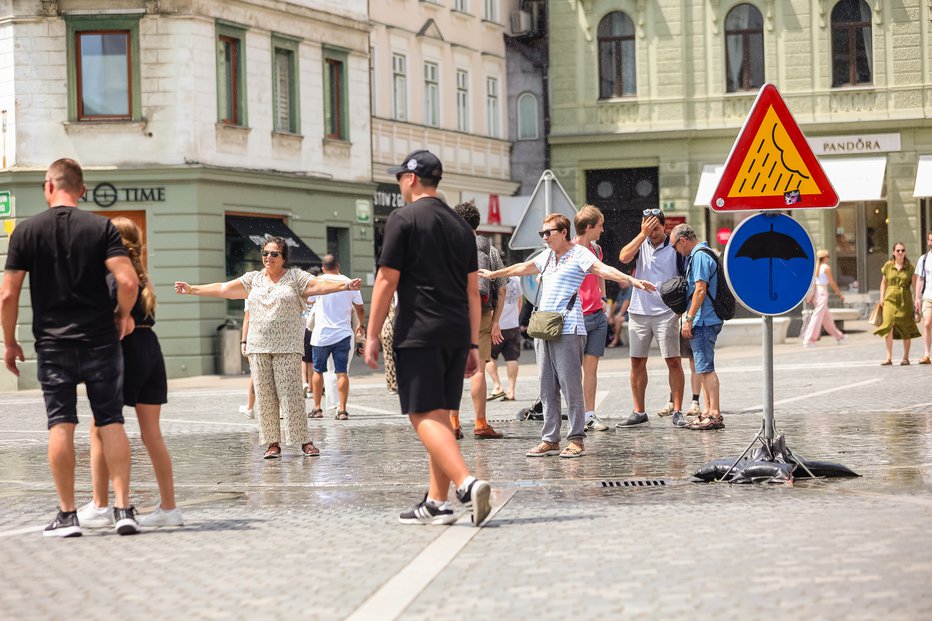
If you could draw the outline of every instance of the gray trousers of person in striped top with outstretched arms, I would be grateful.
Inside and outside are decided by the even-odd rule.
[[[544,428],[540,437],[545,442],[560,441],[561,391],[570,408],[567,415],[570,423],[567,439],[582,441],[586,436],[586,407],[582,395],[582,358],[585,349],[584,334],[564,334],[555,341],[534,339],[540,400],[544,406]]]

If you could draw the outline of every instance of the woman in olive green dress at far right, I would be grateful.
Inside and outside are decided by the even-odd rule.
[[[909,345],[911,339],[919,338],[919,329],[913,320],[913,267],[906,258],[906,246],[901,243],[893,245],[893,256],[880,268],[883,279],[880,281],[880,299],[883,300],[883,323],[874,330],[874,334],[886,337],[887,359],[881,366],[893,364],[893,339],[903,341],[903,360],[900,365],[909,364]]]

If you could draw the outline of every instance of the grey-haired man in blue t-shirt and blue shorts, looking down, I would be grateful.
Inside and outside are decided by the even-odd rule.
[[[686,294],[689,308],[683,315],[682,334],[690,339],[696,373],[709,399],[709,411],[689,425],[689,429],[722,429],[725,423],[719,407],[718,375],[715,373],[715,341],[722,331],[722,320],[715,314],[712,299],[718,294],[718,264],[708,252],[708,244],[696,239],[688,224],[678,224],[670,232],[673,248],[687,257]]]

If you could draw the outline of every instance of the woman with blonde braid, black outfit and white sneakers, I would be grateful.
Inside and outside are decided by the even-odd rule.
[[[155,325],[155,291],[142,263],[142,242],[139,228],[129,218],[113,218],[123,245],[139,277],[139,293],[131,311],[136,328],[126,335],[120,345],[123,349],[123,404],[136,408],[136,419],[142,442],[146,446],[155,480],[159,486],[159,504],[153,513],[139,520],[140,526],[181,526],[184,519],[175,506],[175,484],[172,477],[172,460],[162,431],[159,414],[162,404],[168,401],[168,381],[165,360],[159,339],[152,331]],[[104,460],[97,429],[91,422],[91,478],[94,481],[94,500],[78,511],[78,521],[88,528],[103,528],[113,523],[107,507],[110,472]]]

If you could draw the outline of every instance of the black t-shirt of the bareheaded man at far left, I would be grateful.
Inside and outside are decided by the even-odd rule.
[[[6,269],[29,272],[36,345],[105,345],[117,340],[104,261],[129,256],[109,219],[53,207],[18,225]]]

